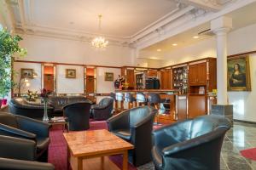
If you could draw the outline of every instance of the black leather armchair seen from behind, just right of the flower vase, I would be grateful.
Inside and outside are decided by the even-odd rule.
[[[69,130],[79,131],[90,128],[90,106],[91,104],[88,102],[78,102],[63,108],[64,116],[67,116],[68,119]]]

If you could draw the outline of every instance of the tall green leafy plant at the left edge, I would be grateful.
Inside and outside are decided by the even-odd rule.
[[[12,35],[6,29],[0,30],[0,97],[2,99],[9,94],[10,89],[15,85],[11,78],[14,54],[26,55],[26,49],[20,48],[20,40],[22,40],[20,36]],[[6,103],[5,99],[3,103]]]

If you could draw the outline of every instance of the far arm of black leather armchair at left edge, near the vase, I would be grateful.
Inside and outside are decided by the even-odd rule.
[[[35,133],[39,137],[49,137],[49,123],[41,122],[26,116],[16,116],[20,129]]]

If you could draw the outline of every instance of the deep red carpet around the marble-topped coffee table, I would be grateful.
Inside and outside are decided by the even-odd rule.
[[[107,129],[106,122],[90,122],[90,130]],[[62,127],[54,126],[49,132],[50,144],[49,144],[49,162],[55,166],[55,170],[67,169],[67,144],[62,135]],[[111,161],[115,163],[120,169],[122,167],[122,156],[110,156]],[[130,163],[129,170],[137,170]]]

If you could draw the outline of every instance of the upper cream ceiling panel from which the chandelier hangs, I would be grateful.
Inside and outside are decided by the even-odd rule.
[[[177,10],[175,0],[11,0],[9,2],[12,2],[15,25],[18,27],[23,24],[32,30],[36,28],[36,30],[48,31],[100,33],[119,38],[133,37],[143,28]],[[98,29],[98,14],[102,14],[101,31]],[[22,17],[24,17],[23,23]]]

